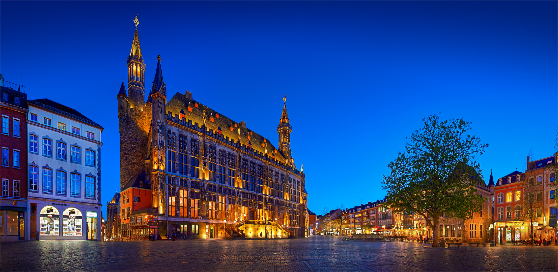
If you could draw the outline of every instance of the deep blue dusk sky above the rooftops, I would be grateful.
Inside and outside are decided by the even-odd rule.
[[[103,202],[119,191],[117,99],[138,14],[146,78],[277,145],[283,93],[311,211],[376,201],[421,118],[473,122],[488,182],[556,149],[556,1],[1,3],[1,66],[28,99],[103,125]],[[151,81],[146,80],[151,86]],[[147,90],[148,91],[148,90]]]

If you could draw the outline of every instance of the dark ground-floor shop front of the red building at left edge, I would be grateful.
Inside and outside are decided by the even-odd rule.
[[[0,241],[12,242],[26,240],[27,201],[2,199],[0,208]]]

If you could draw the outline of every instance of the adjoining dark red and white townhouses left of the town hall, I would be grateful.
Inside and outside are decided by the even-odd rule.
[[[100,240],[103,127],[0,82],[0,241]]]

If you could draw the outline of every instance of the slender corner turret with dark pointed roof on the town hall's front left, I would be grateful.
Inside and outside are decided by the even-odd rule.
[[[165,184],[165,135],[166,135],[166,104],[167,104],[167,86],[163,81],[163,71],[161,69],[161,55],[157,56],[157,69],[155,70],[155,79],[153,79],[151,92],[147,98],[147,104],[151,105],[151,133],[149,139],[148,153],[151,157],[151,190],[152,205],[157,208],[160,213],[165,212],[165,193],[162,184]],[[167,139],[168,141],[174,139]],[[148,163],[148,162],[146,162]]]

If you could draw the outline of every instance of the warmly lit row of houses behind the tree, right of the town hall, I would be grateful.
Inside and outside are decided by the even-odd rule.
[[[555,231],[536,231],[542,226],[556,228],[556,153],[536,161],[527,156],[525,172],[513,171],[494,182],[475,184],[477,193],[487,198],[480,212],[463,220],[445,214],[440,218],[439,237],[465,242],[497,240],[502,243],[530,239],[531,234],[555,239]],[[316,218],[317,235],[374,234],[432,237],[432,229],[421,215],[401,214],[377,200],[347,209],[331,210]],[[531,214],[532,213],[532,214]]]

